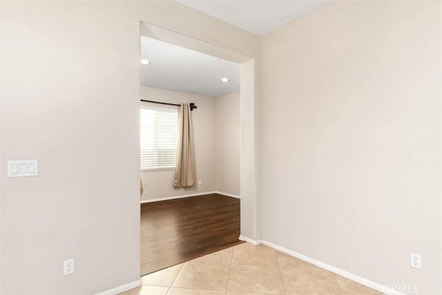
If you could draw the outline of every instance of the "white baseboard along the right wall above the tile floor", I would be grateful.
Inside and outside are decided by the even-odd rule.
[[[242,236],[242,235],[240,236],[240,240],[244,240],[245,242],[249,242],[252,245],[260,245],[260,244],[266,245],[268,247],[271,247],[273,249],[281,251],[281,252],[288,254],[290,256],[294,256],[300,260],[304,260],[307,263],[311,263],[312,265],[316,265],[317,267],[327,269],[329,272],[334,272],[335,274],[338,274],[339,276],[343,276],[344,278],[348,278],[349,280],[354,280],[355,282],[360,283],[361,285],[365,285],[367,287],[375,289],[375,290],[382,292],[384,294],[405,295],[405,294],[398,292],[397,290],[392,289],[390,287],[386,287],[386,286],[376,283],[372,280],[368,280],[367,278],[357,276],[356,274],[352,274],[351,272],[347,272],[347,271],[340,269],[338,267],[334,267],[333,265],[329,265],[329,264],[324,263],[320,260],[316,260],[314,258],[310,258],[309,256],[299,254],[298,252],[291,251],[285,247],[281,247],[280,245],[273,244],[272,242],[267,242],[267,240],[252,240],[251,238],[247,238],[246,236]]]

